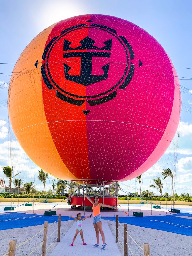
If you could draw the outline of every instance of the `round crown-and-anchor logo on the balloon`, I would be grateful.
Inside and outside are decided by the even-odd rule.
[[[118,89],[128,86],[134,58],[131,45],[116,30],[80,24],[63,30],[47,44],[41,74],[61,100],[94,106],[114,99]]]

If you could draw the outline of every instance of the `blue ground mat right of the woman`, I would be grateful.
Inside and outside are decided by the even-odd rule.
[[[186,218],[179,218],[177,216],[192,217],[192,214],[178,213],[166,216],[119,217],[119,222],[186,236],[192,236],[192,220]],[[116,217],[102,217],[102,219],[116,221]]]

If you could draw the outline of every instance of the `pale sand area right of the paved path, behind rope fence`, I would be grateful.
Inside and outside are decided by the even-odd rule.
[[[116,236],[116,222],[108,221],[109,228],[113,236]],[[123,224],[122,224],[123,226]],[[134,225],[127,225],[127,231],[132,238],[143,247],[143,243],[149,243],[150,256],[191,256],[192,255],[192,237],[171,232],[143,228]],[[119,251],[123,253],[123,227],[119,225]],[[128,246],[135,256],[143,256],[143,251],[128,236]],[[133,255],[128,248],[128,255]]]

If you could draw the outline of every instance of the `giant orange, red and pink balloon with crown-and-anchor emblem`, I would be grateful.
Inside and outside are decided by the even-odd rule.
[[[9,118],[27,155],[65,180],[130,180],[170,145],[180,85],[162,46],[106,15],[62,20],[21,53],[8,92]]]

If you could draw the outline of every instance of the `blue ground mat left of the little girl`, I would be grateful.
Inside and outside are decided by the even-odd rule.
[[[29,226],[36,226],[44,224],[44,221],[53,223],[58,220],[58,216],[44,216],[37,214],[26,214],[12,212],[8,214],[0,215],[0,230],[12,229],[12,228],[23,228]],[[73,220],[69,217],[62,216],[61,221]]]

